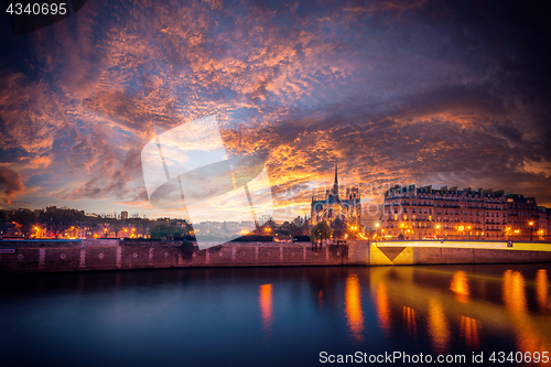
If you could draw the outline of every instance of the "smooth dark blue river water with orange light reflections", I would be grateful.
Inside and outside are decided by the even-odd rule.
[[[2,274],[0,366],[313,366],[322,352],[327,361],[464,355],[450,364],[463,366],[473,354],[483,353],[478,366],[511,366],[530,353],[541,364],[550,273],[529,265]]]

